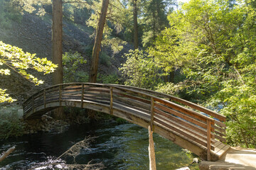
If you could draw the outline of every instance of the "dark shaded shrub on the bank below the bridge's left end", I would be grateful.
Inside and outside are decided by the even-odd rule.
[[[18,115],[18,109],[21,108],[0,107],[0,139],[23,135],[24,123],[19,119],[21,115]]]

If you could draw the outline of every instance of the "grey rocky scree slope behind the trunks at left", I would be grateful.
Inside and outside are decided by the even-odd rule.
[[[25,13],[21,20],[11,21],[11,26],[5,28],[0,25],[0,40],[17,47],[21,47],[26,52],[36,53],[38,57],[47,57],[51,60],[51,16],[46,15],[40,18],[36,15]],[[83,29],[84,28],[84,29]],[[80,69],[84,72],[89,72],[90,56],[87,56],[85,48],[88,45],[93,45],[94,40],[90,38],[93,30],[85,26],[77,26],[70,21],[63,21],[63,52],[78,51],[85,57],[87,64]],[[119,74],[118,67],[124,58],[122,55],[129,51],[132,45],[125,45],[124,49],[113,54],[110,49],[105,48],[105,53],[110,56],[110,65],[99,65],[100,74]],[[23,79],[16,73],[11,76],[1,76],[0,87],[8,89],[7,94],[18,99],[18,103],[22,103],[28,96],[43,87],[50,86],[51,77],[43,76],[36,73],[36,77],[45,80],[45,84],[34,86],[30,82]]]

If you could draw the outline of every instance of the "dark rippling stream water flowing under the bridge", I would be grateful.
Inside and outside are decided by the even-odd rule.
[[[54,162],[75,142],[85,137],[97,137],[89,149],[82,149],[75,158],[78,164],[100,163],[105,169],[149,169],[148,131],[138,125],[105,122],[72,125],[63,133],[38,133],[0,141],[0,153],[9,147],[16,150],[3,162],[0,169],[30,169]],[[154,134],[156,166],[158,170],[172,170],[188,166],[195,155],[187,154],[181,147],[164,137]],[[73,164],[73,158],[64,157],[63,162]],[[190,169],[198,169],[192,164]]]

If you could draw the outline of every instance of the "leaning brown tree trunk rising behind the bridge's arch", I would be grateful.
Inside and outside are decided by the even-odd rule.
[[[102,1],[102,8],[101,8],[100,19],[99,19],[99,23],[96,31],[95,44],[92,50],[92,62],[90,66],[90,77],[89,77],[90,83],[96,83],[97,81],[97,67],[99,62],[100,46],[101,46],[103,30],[106,22],[107,7],[109,3],[110,3],[110,0]]]

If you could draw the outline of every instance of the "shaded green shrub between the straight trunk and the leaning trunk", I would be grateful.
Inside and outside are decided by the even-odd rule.
[[[65,54],[63,54],[63,81],[65,83],[77,81],[79,75],[81,75],[81,72],[78,72],[78,67],[86,62],[87,60],[78,52],[65,52]],[[82,79],[85,79],[85,77],[82,77]]]

